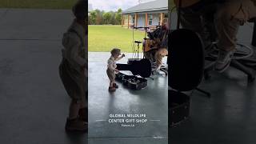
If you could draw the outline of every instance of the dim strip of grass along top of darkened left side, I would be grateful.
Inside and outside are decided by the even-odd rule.
[[[76,0],[0,0],[0,8],[71,9]]]

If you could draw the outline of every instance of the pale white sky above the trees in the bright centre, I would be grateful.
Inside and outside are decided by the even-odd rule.
[[[152,0],[142,0],[143,2]],[[138,5],[138,0],[89,0],[93,10],[117,11],[118,8],[126,10],[131,6]]]

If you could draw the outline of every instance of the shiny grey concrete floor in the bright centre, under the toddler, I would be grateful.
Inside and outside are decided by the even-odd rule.
[[[110,53],[89,53],[89,143],[168,143],[168,78],[148,78],[148,86],[143,90],[129,90],[118,82],[118,90],[109,93],[106,75],[109,57]],[[119,63],[126,63],[131,57],[132,54],[126,54]],[[109,114],[146,114],[148,122],[122,127],[107,122]]]

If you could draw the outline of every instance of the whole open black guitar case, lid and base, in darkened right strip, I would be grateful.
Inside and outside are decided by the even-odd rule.
[[[172,31],[168,47],[169,123],[174,126],[189,116],[190,96],[183,92],[199,90],[205,54],[201,38],[192,30]]]

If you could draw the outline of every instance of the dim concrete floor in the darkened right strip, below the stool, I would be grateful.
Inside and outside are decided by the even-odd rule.
[[[241,26],[238,42],[250,46],[252,32],[252,23]],[[248,84],[246,74],[232,67],[224,74],[211,75],[199,87],[212,97],[194,92],[190,119],[169,129],[169,143],[256,143],[256,82]]]

